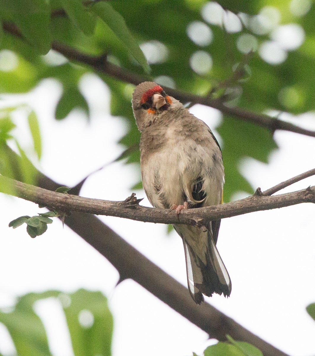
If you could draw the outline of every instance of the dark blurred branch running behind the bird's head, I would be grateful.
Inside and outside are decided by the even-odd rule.
[[[4,21],[3,28],[6,32],[11,33],[12,35],[22,37],[18,28],[10,22]],[[52,43],[52,49],[63,54],[63,56],[71,61],[76,61],[81,64],[91,66],[97,72],[110,75],[111,77],[122,80],[123,82],[138,85],[145,80],[151,80],[149,77],[144,77],[133,72],[129,72],[127,69],[122,69],[121,67],[109,63],[105,54],[102,56],[91,56],[90,54],[82,53],[75,48],[66,46],[57,41]],[[168,94],[182,101],[183,103],[193,102],[211,106],[212,108],[218,109],[226,115],[235,116],[243,121],[252,122],[253,124],[265,127],[272,132],[275,130],[285,130],[315,137],[315,131],[303,129],[302,127],[293,125],[290,122],[285,122],[268,115],[256,114],[249,110],[226,106],[220,99],[210,99],[207,96],[182,93],[179,90],[171,88],[165,89]]]

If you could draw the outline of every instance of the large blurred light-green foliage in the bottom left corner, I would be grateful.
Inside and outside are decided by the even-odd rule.
[[[75,356],[111,355],[113,318],[107,299],[101,292],[85,289],[67,294],[57,290],[28,293],[18,298],[13,310],[1,311],[0,322],[9,331],[17,355],[52,355],[42,320],[34,311],[36,302],[47,298],[60,304]],[[58,318],[49,324],[59,328]]]

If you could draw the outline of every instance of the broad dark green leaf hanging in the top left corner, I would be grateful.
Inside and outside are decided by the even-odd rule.
[[[50,39],[50,7],[46,0],[0,0],[6,19],[12,20],[22,36],[40,54],[48,53]]]

